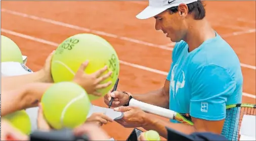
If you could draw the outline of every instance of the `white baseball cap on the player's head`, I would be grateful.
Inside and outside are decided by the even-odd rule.
[[[198,0],[149,0],[149,6],[136,17],[138,19],[148,19],[162,13],[168,8],[177,7],[180,4],[190,4],[197,1]]]

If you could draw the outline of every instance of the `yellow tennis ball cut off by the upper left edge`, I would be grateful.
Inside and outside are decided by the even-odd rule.
[[[23,62],[19,46],[3,35],[1,35],[1,62]]]

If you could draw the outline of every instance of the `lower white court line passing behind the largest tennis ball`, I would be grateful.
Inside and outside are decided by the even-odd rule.
[[[22,38],[30,39],[30,40],[33,40],[33,41],[37,41],[37,42],[53,45],[53,46],[58,46],[59,45],[56,42],[52,42],[52,41],[48,41],[48,40],[32,37],[32,36],[29,36],[29,35],[25,35],[25,34],[22,34],[22,33],[14,32],[14,31],[11,31],[11,30],[3,29],[3,28],[1,28],[1,31],[5,32],[5,33],[8,33],[8,34],[15,35],[15,36],[19,36],[19,37],[22,37]],[[164,72],[164,71],[148,68],[148,67],[145,67],[145,66],[141,66],[141,65],[137,65],[137,64],[121,61],[121,60],[119,60],[119,62],[120,62],[120,64],[123,64],[123,65],[131,66],[131,67],[134,67],[134,68],[146,70],[146,71],[157,73],[157,74],[162,74],[162,75],[165,75],[165,76],[168,74],[167,72]],[[256,96],[252,95],[250,93],[243,92],[243,96],[256,99]]]

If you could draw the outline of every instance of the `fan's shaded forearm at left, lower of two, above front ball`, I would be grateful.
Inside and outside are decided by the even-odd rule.
[[[53,83],[30,83],[22,88],[2,92],[2,112],[1,115],[7,115],[12,112],[36,107],[37,102],[41,100],[44,92]]]

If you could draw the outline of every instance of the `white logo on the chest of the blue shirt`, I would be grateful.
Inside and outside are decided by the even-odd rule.
[[[173,91],[173,97],[174,97],[174,99],[175,99],[175,96],[176,96],[176,94],[177,94],[179,88],[183,88],[184,85],[185,85],[185,74],[184,74],[184,71],[183,71],[183,70],[181,70],[181,72],[182,72],[182,81],[179,81],[179,80],[175,81],[175,80],[174,80],[174,76],[175,76],[175,73],[176,73],[176,71],[177,71],[177,69],[176,69],[177,66],[178,66],[178,65],[174,65],[174,67],[173,67],[173,69],[172,69],[172,73],[171,73],[171,75],[170,75],[170,88],[171,88],[171,90]],[[176,71],[175,71],[175,69],[176,69]],[[178,77],[178,78],[179,78],[179,77]]]

